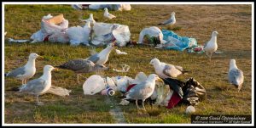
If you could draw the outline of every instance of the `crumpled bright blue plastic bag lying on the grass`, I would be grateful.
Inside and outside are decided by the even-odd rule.
[[[183,51],[189,47],[197,46],[195,38],[189,38],[187,36],[178,36],[173,31],[162,30],[163,40],[165,43],[158,44],[155,48],[160,49],[172,49],[177,51]]]

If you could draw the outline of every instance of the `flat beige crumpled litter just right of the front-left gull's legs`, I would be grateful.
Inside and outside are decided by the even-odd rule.
[[[71,92],[71,90],[67,90],[66,88],[62,88],[62,87],[57,87],[57,86],[51,86],[49,88],[49,90],[45,93],[51,93],[54,95],[58,95],[58,96],[69,96],[69,93]]]

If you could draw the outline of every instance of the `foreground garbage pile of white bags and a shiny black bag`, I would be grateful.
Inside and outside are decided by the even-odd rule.
[[[101,75],[91,75],[83,85],[84,95],[102,95],[113,96],[115,92],[125,94],[133,86],[146,81],[148,78],[143,72],[139,72],[134,79],[128,76],[102,77]],[[156,81],[154,92],[147,100],[154,101],[155,105],[172,109],[178,103],[188,105],[197,105],[207,96],[206,89],[201,86],[194,78],[189,78],[186,81],[166,78],[163,81]],[[132,99],[122,99],[120,104],[127,105],[133,102]]]

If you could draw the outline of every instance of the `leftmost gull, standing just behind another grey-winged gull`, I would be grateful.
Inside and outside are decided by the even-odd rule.
[[[15,79],[18,79],[22,81],[22,84],[26,83],[26,80],[32,78],[33,75],[36,73],[36,58],[43,58],[42,56],[39,56],[37,53],[30,53],[28,57],[27,63],[15,70],[9,71],[9,73],[4,74],[6,77],[14,77]]]

